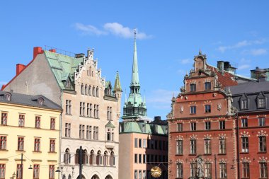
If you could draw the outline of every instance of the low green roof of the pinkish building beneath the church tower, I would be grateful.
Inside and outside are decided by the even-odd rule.
[[[120,122],[121,132],[120,133],[143,133],[143,134],[160,134],[167,135],[168,127],[167,125],[154,125],[144,122]]]

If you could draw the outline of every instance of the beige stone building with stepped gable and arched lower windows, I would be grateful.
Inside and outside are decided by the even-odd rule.
[[[105,81],[93,50],[74,57],[34,48],[27,66],[17,64],[16,76],[4,91],[42,94],[63,108],[60,178],[78,178],[79,146],[84,149],[86,179],[118,178],[118,119],[122,89]]]

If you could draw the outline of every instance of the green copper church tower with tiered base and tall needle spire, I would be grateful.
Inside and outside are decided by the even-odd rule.
[[[130,94],[128,99],[125,97],[125,105],[123,107],[122,120],[137,120],[143,116],[147,116],[147,107],[145,100],[143,101],[140,93],[140,83],[137,64],[137,43],[135,31],[135,47],[132,62],[132,81],[130,84]]]

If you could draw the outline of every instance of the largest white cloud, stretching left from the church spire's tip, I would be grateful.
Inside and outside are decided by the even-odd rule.
[[[118,37],[124,38],[133,38],[134,30],[128,27],[124,27],[120,23],[105,23],[103,25],[103,29],[100,30],[93,25],[84,25],[82,23],[75,24],[76,30],[80,30],[84,34],[93,34],[93,35],[108,35],[112,34]],[[147,35],[146,33],[139,33],[137,30],[137,39],[146,39],[151,37],[151,35]]]

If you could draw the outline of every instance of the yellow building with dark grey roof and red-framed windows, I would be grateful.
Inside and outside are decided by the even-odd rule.
[[[44,96],[0,91],[0,179],[58,178],[61,111]]]

